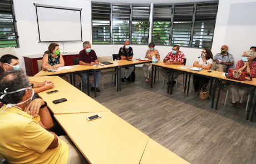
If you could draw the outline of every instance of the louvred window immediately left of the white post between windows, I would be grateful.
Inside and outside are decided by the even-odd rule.
[[[149,43],[149,5],[132,5],[131,44]]]

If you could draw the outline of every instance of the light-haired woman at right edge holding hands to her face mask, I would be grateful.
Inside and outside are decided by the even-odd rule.
[[[242,60],[237,62],[235,69],[239,71],[245,71],[248,76],[256,76],[256,62],[253,59],[256,56],[256,52],[246,51],[242,55]],[[232,93],[232,103],[235,107],[240,107],[243,103],[243,98],[248,94],[249,88],[242,87],[240,85],[230,85],[230,92]]]

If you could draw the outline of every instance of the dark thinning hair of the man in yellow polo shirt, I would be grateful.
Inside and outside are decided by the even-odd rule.
[[[6,90],[6,88],[8,88],[6,90],[6,92],[8,93],[8,92],[17,91],[21,88],[26,88],[29,86],[30,86],[30,83],[28,81],[28,78],[24,73],[24,71],[22,70],[6,71],[3,73],[0,73],[0,92],[1,92],[0,96],[3,95],[3,92],[4,90]],[[16,92],[16,93],[6,94],[6,96],[4,96],[2,100],[0,99],[0,101],[2,101],[4,104],[18,103],[19,101],[22,100],[22,97],[24,96],[24,94],[25,94],[25,90]]]

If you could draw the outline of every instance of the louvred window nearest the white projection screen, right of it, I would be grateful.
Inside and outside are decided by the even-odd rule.
[[[92,3],[92,43],[110,44],[110,4]]]

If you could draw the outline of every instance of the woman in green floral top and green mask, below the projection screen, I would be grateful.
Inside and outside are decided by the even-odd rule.
[[[42,59],[43,69],[58,69],[58,67],[65,66],[64,59],[58,49],[57,43],[51,43],[48,51],[45,52]]]

